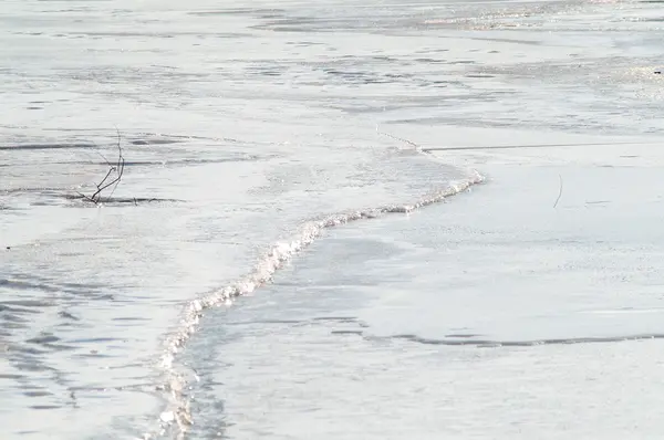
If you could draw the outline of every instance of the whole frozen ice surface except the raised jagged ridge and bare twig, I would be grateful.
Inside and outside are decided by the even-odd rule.
[[[656,3],[23,1],[3,7],[0,29],[0,422],[9,438],[152,432],[188,396],[167,405],[159,366],[188,301],[247,274],[305,220],[413,203],[468,167],[491,178],[479,192],[417,214],[419,223],[353,223],[229,315],[214,310],[176,359],[200,379],[191,437],[304,438],[317,426],[323,437],[427,438],[445,432],[440,420],[456,426],[461,405],[459,432],[501,427],[511,438],[501,412],[510,408],[497,401],[515,371],[532,371],[518,400],[530,411],[519,419],[525,434],[551,428],[530,402],[542,383],[562,378],[568,405],[540,401],[561,411],[559,427],[589,410],[593,394],[614,398],[608,385],[616,383],[642,396],[642,408],[657,407],[655,367],[631,364],[657,363],[657,341],[494,352],[436,344],[660,331],[661,210],[645,190],[657,187],[661,164],[645,142],[663,128]],[[75,196],[94,191],[104,157],[114,160],[115,126],[125,175],[97,209]],[[579,146],[426,157],[400,151],[411,146],[376,126],[427,148],[643,143],[613,156]],[[542,163],[549,168],[532,167]],[[631,168],[598,168],[616,165]],[[564,192],[552,210],[559,174]],[[578,205],[572,188],[587,190]],[[500,202],[508,196],[511,211]],[[487,214],[474,223],[478,211]],[[367,263],[376,259],[390,263]],[[434,273],[423,259],[449,271]],[[487,296],[488,283],[497,295]],[[540,295],[528,294],[535,287]],[[339,314],[350,319],[314,319]],[[560,369],[542,365],[549,357]],[[459,379],[469,366],[484,381]],[[450,381],[458,392],[438,392]],[[459,404],[464,394],[475,398]],[[390,412],[390,401],[404,405]],[[589,417],[621,432],[612,413]],[[646,416],[631,420],[656,432]]]

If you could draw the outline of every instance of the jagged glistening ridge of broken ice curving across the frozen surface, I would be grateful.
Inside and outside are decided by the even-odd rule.
[[[444,189],[430,192],[411,205],[388,205],[374,209],[331,214],[321,220],[309,221],[302,226],[293,241],[276,243],[248,275],[222,290],[189,302],[185,307],[178,329],[166,339],[165,354],[160,359],[160,368],[166,376],[163,389],[168,392],[169,401],[167,408],[159,416],[158,436],[164,436],[169,429],[175,428],[176,432],[173,432],[173,436],[179,439],[184,437],[187,427],[191,425],[190,401],[184,392],[187,380],[184,374],[177,371],[174,360],[179,349],[196,332],[205,310],[230,304],[234,297],[251,293],[269,282],[287,261],[311,244],[325,229],[357,220],[374,219],[382,214],[409,213],[416,209],[439,203],[446,198],[466,191],[471,186],[484,181],[485,177],[483,175],[476,170],[470,170],[466,179],[453,181]],[[145,433],[143,438],[152,439],[154,434]]]

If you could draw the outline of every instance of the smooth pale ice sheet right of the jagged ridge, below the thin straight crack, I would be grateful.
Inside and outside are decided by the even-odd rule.
[[[660,436],[664,157],[585,150],[464,151],[487,185],[331,230],[210,312],[191,437]]]

